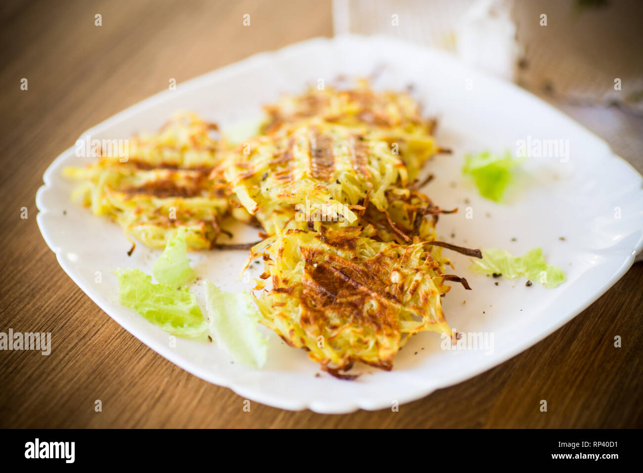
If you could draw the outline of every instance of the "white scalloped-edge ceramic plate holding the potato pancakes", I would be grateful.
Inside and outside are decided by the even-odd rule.
[[[329,84],[339,75],[365,77],[376,71],[376,88],[412,84],[425,114],[440,117],[440,144],[453,148],[451,156],[437,156],[428,164],[427,172],[435,174],[435,180],[424,189],[443,209],[460,208],[440,218],[440,239],[475,248],[506,248],[514,254],[541,246],[548,263],[566,273],[566,283],[556,289],[526,287],[524,279],[473,275],[467,271],[468,259],[453,255],[454,272],[467,277],[473,291],[453,284],[443,299],[446,318],[457,331],[493,336],[493,351],[446,351],[440,349],[437,333],[421,333],[397,355],[393,371],[366,369],[347,382],[326,373],[315,376],[320,370],[302,350],[285,346],[267,329],[269,359],[260,371],[233,364],[212,343],[178,339],[171,348],[167,333],[118,304],[116,279],[110,272],[116,267],[150,272],[159,252],[138,245],[128,257],[130,243],[120,227],[70,201],[73,186],[60,171],[91,159],[77,158],[73,147],[51,164],[37,194],[42,236],[73,281],[163,357],[250,400],[319,413],[390,408],[482,373],[561,327],[628,270],[643,245],[640,174],[600,138],[522,89],[469,70],[440,51],[396,39],[312,39],[261,53],[159,93],[83,136],[127,138],[156,129],[179,109],[194,110],[226,127],[255,118],[261,104],[281,93],[300,91],[320,79]],[[568,140],[569,154],[529,158],[520,185],[505,205],[480,198],[460,174],[464,154],[514,151],[517,141],[528,136]],[[473,218],[466,218],[466,207],[471,207]],[[248,230],[245,237],[253,239],[256,230]],[[237,280],[245,252],[201,252],[190,258],[203,279],[226,290],[237,292],[251,284]],[[256,274],[255,270],[251,275]],[[199,283],[195,290],[199,292]]]

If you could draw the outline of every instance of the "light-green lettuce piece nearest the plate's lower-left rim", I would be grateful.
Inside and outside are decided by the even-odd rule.
[[[179,337],[199,338],[208,333],[208,322],[193,293],[152,283],[141,270],[118,269],[118,301],[136,310],[159,328]]]

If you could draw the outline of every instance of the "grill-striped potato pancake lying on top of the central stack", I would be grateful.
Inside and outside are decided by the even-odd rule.
[[[386,142],[316,119],[249,140],[224,167],[231,190],[268,234],[292,221],[296,206],[352,224],[367,195],[385,209],[386,190],[407,180]]]

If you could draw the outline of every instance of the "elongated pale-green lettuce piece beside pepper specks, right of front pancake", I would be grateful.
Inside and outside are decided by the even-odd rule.
[[[522,256],[514,256],[507,250],[489,248],[482,250],[482,259],[471,261],[473,264],[469,270],[479,274],[502,274],[507,279],[524,276],[546,288],[555,288],[565,282],[565,274],[561,268],[545,263],[541,248],[532,248]]]

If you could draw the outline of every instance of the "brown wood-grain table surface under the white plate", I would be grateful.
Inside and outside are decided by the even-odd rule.
[[[42,240],[35,192],[82,131],[170,77],[180,83],[331,35],[329,2],[4,1],[0,9],[0,331],[50,331],[54,342],[48,357],[0,351],[0,427],[643,426],[640,263],[533,348],[399,412],[323,416],[257,403],[244,412],[243,398],[160,357],[78,289]]]

